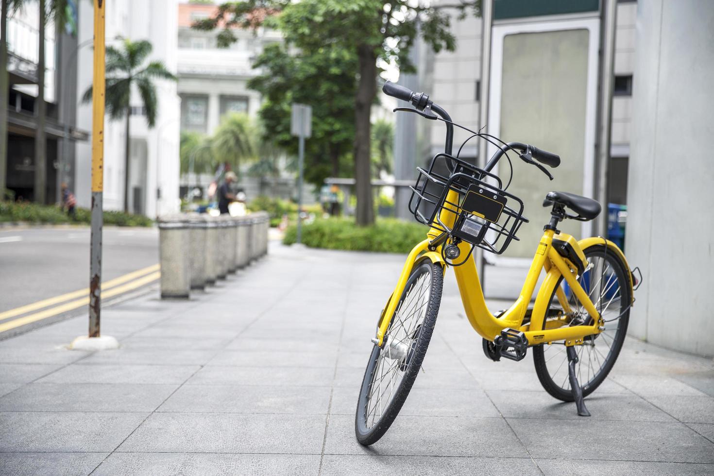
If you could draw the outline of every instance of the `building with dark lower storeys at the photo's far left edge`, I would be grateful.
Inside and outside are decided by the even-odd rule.
[[[76,14],[76,10],[72,11]],[[76,21],[76,16],[68,24]],[[35,200],[35,136],[38,96],[39,2],[28,1],[10,12],[7,23],[9,76],[6,187],[17,199]],[[74,141],[86,131],[74,126],[76,95],[76,31],[49,22],[45,28],[46,203],[59,199],[59,185],[74,178]]]

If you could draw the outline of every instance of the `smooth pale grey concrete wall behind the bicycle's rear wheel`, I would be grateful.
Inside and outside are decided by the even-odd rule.
[[[714,2],[638,2],[628,179],[630,334],[714,355]]]

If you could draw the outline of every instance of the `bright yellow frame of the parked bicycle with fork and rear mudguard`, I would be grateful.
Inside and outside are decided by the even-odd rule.
[[[447,201],[450,203],[458,203],[458,193],[456,193],[456,191],[449,191],[449,194]],[[445,223],[451,228],[454,221],[456,221],[456,212],[443,209],[439,219],[442,223]],[[411,250],[411,253],[409,253],[396,288],[382,311],[376,336],[378,345],[382,345],[383,343],[383,338],[391,321],[391,316],[396,312],[399,296],[403,293],[413,265],[418,263],[418,261],[428,259],[431,260],[432,263],[438,263],[446,271],[447,263],[444,262],[441,256],[441,247],[435,251],[431,251],[428,248],[429,241],[440,233],[440,230],[431,228],[428,233],[428,238],[416,245]],[[550,343],[555,340],[565,340],[566,345],[576,345],[582,344],[583,338],[586,335],[600,333],[600,326],[602,325],[600,313],[598,313],[595,305],[590,300],[588,293],[578,282],[577,271],[553,248],[553,236],[555,236],[553,230],[545,230],[543,232],[543,236],[540,238],[540,243],[538,243],[538,248],[535,250],[535,255],[533,256],[531,268],[528,270],[526,282],[523,283],[523,288],[521,289],[520,295],[518,295],[518,299],[511,305],[511,308],[498,317],[494,316],[486,307],[486,299],[483,296],[483,289],[481,288],[481,281],[478,278],[478,271],[476,270],[476,263],[473,260],[473,256],[468,258],[463,265],[454,267],[454,274],[456,275],[456,282],[458,283],[458,289],[461,293],[461,300],[464,310],[466,311],[466,316],[473,329],[476,330],[481,337],[487,340],[493,340],[497,335],[501,334],[501,330],[513,328],[523,331],[528,339],[528,345]],[[560,239],[567,239],[568,237],[569,235],[565,233],[560,233],[558,236]],[[615,243],[605,240],[605,238],[585,238],[584,240],[578,241],[581,248],[587,248],[588,246],[599,243],[607,245],[608,249],[613,249],[623,260],[625,259],[620,248],[618,248]],[[461,242],[459,248],[461,249],[461,253],[469,253],[471,245],[466,242]],[[530,323],[524,325],[523,320],[526,317],[528,306],[531,303],[535,285],[538,283],[538,276],[543,268],[545,268],[545,280],[543,280],[543,284],[540,286],[538,294],[535,297],[535,305],[531,311]],[[558,286],[560,276],[563,276],[565,282],[570,286],[570,290],[578,298],[588,315],[590,315],[593,325],[570,326],[567,325],[563,318],[550,320],[545,326],[546,328],[543,328],[543,321],[545,320],[545,313],[548,310],[550,297],[553,295],[555,287]],[[630,285],[632,285],[631,276]],[[555,291],[555,295],[560,305],[563,306],[563,310],[565,310],[566,313],[569,312],[568,298],[566,298],[563,288],[558,287],[558,290]]]

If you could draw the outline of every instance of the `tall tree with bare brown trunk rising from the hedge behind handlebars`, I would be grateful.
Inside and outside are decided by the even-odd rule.
[[[265,21],[283,32],[286,41],[302,51],[321,46],[341,46],[356,54],[358,78],[354,96],[354,163],[359,225],[374,221],[371,191],[370,112],[377,95],[378,63],[413,71],[408,52],[416,37],[435,51],[453,50],[456,39],[449,32],[450,17],[443,10],[456,8],[461,16],[471,9],[480,14],[480,0],[433,5],[418,0],[246,0],[221,4],[212,18],[196,22],[196,28],[222,26],[218,44],[235,41],[236,26],[256,27]],[[274,15],[281,12],[279,15]],[[275,19],[271,19],[275,17]]]

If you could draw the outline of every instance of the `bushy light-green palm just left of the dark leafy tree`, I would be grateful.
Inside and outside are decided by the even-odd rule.
[[[221,162],[231,164],[240,174],[241,160],[256,158],[256,128],[245,113],[229,113],[223,117],[213,136],[213,149]]]

